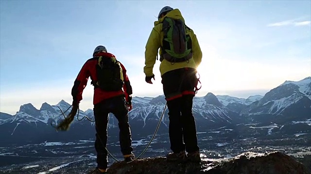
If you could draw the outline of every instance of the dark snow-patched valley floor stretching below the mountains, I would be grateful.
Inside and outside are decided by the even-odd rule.
[[[215,136],[213,132],[198,132],[202,160],[223,160],[233,158],[243,152],[266,153],[279,151],[296,159],[311,157],[310,133],[288,135],[282,138],[231,139]],[[213,135],[214,134],[214,135]],[[140,158],[165,157],[170,152],[168,134],[157,134],[148,150]],[[133,137],[135,156],[146,148],[152,136]],[[107,149],[117,159],[122,160],[118,137],[109,137]],[[108,157],[109,165],[115,160]],[[96,167],[94,140],[73,142],[43,142],[0,147],[0,171],[3,174],[85,174]],[[311,166],[307,166],[311,167]]]

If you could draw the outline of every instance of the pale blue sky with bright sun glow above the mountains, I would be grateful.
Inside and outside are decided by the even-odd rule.
[[[311,76],[310,0],[1,0],[0,111],[71,102],[71,87],[97,45],[125,65],[133,96],[162,95],[144,81],[145,44],[166,5],[180,9],[203,52],[203,87],[216,95],[265,94]],[[90,81],[81,109],[92,108]]]

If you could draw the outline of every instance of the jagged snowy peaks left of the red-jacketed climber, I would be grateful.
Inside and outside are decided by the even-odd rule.
[[[80,122],[77,120],[77,117],[73,121],[74,124],[70,126],[69,134],[56,132],[52,128],[51,123],[55,124],[64,119],[57,106],[65,112],[70,104],[63,100],[52,106],[48,103],[43,103],[39,110],[31,103],[20,106],[16,115],[10,116],[1,122],[0,131],[2,133],[0,138],[4,141],[1,141],[0,144],[42,142],[48,139],[57,141],[79,137],[85,138],[89,137],[89,132],[85,133],[85,131],[94,132],[92,122]],[[70,110],[65,113],[66,116]],[[87,116],[87,114],[80,110],[79,119],[82,119],[84,116]],[[90,115],[90,118],[94,119],[92,115]],[[81,129],[82,127],[83,129]]]

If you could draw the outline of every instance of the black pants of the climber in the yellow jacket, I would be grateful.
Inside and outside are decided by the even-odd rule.
[[[163,92],[169,110],[171,149],[174,153],[199,150],[192,114],[196,81],[195,69],[177,69],[162,75]]]

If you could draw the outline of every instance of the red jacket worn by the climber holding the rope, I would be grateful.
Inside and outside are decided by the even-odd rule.
[[[108,56],[108,57],[115,57],[111,53],[104,53],[101,52],[97,54],[96,56]],[[98,63],[98,58],[90,58],[86,61],[86,63],[83,65],[82,69],[80,70],[80,73],[78,74],[76,80],[74,81],[74,85],[71,90],[71,95],[73,99],[77,100],[79,103],[82,100],[82,92],[84,88],[86,87],[88,77],[91,77],[92,82],[95,82],[93,84],[96,84],[97,76],[96,76],[96,65]],[[115,97],[115,96],[121,96],[125,95],[126,102],[131,101],[130,95],[132,92],[132,87],[130,84],[130,81],[128,79],[128,76],[126,74],[126,69],[121,64],[122,72],[123,72],[123,90],[120,91],[104,91],[100,87],[94,87],[94,96],[93,96],[93,104],[97,104],[99,102],[102,102],[105,99]]]

